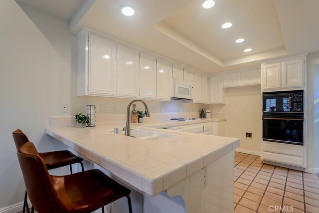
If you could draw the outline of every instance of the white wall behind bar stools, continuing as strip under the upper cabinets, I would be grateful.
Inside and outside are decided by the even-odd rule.
[[[24,184],[12,131],[22,129],[40,152],[65,149],[45,133],[50,116],[107,104],[125,113],[129,99],[76,97],[77,40],[66,21],[14,0],[0,1],[0,210],[23,201]],[[154,112],[199,112],[201,104],[147,101]],[[62,113],[62,104],[69,112]],[[138,106],[139,104],[137,104]],[[65,174],[66,169],[53,171]]]

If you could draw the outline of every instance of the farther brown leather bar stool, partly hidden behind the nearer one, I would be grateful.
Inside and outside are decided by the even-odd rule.
[[[17,129],[12,133],[13,140],[15,143],[16,149],[29,141],[28,137],[22,132],[22,130]],[[83,159],[75,156],[73,153],[67,150],[63,151],[54,151],[54,152],[43,152],[39,153],[39,156],[44,161],[44,164],[48,170],[56,169],[59,167],[64,167],[70,165],[70,172],[72,174],[72,164],[79,163],[81,164],[82,172],[84,171],[84,167],[82,164]],[[27,193],[25,191],[24,195],[24,204],[23,204],[23,213],[26,210],[29,213],[29,206],[27,203]],[[33,209],[32,209],[33,212]]]

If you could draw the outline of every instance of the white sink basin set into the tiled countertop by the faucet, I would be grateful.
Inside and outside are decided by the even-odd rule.
[[[124,135],[125,132],[120,131],[119,134]],[[145,130],[145,129],[133,129],[131,130],[131,136],[141,140],[157,140],[160,138],[168,138],[168,137],[176,136],[176,134]]]

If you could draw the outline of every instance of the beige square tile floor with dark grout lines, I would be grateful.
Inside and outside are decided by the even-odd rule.
[[[235,152],[235,213],[319,213],[319,176]]]

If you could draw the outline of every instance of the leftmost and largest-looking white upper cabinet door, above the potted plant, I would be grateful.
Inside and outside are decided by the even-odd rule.
[[[89,34],[89,95],[115,96],[115,46],[114,42]]]

